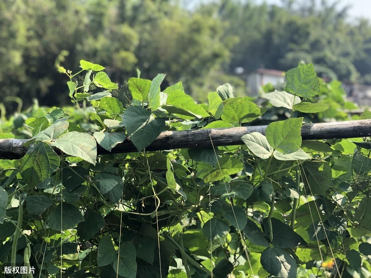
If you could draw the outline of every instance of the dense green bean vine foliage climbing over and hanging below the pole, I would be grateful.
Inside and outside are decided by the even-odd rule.
[[[29,264],[34,277],[75,278],[371,277],[371,143],[302,140],[303,119],[331,109],[312,64],[289,70],[284,91],[265,94],[268,110],[288,116],[265,136],[155,152],[145,148],[164,130],[254,125],[269,111],[233,97],[229,84],[196,104],[181,82],[161,91],[164,74],[151,81],[139,71],[124,106],[104,67],[80,65],[60,68],[76,107],[35,104],[2,121],[3,131],[31,137],[23,158],[0,160],[2,269]],[[340,94],[335,88],[326,92]],[[97,144],[109,152],[127,136],[138,152],[97,153]]]

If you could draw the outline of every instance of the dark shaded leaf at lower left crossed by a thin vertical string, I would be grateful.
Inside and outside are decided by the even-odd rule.
[[[84,218],[80,210],[66,203],[60,203],[53,207],[46,217],[46,224],[56,231],[72,229],[82,221],[84,221]]]

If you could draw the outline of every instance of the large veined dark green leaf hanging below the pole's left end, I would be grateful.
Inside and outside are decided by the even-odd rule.
[[[32,146],[18,161],[18,170],[30,188],[36,187],[59,167],[59,156],[44,142]]]

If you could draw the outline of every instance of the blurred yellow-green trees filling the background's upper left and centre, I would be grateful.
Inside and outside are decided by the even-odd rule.
[[[85,59],[118,83],[138,67],[144,78],[164,72],[168,83],[202,85],[233,46],[213,14],[167,0],[1,1],[0,24],[1,96],[25,104],[33,97],[47,105],[69,101],[55,65],[76,70]]]

